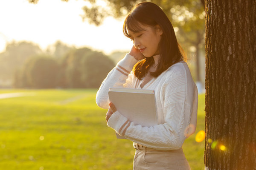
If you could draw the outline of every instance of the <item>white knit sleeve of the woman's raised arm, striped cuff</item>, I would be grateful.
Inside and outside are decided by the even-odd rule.
[[[111,87],[125,87],[131,88],[132,75],[131,71],[133,66],[138,62],[133,56],[126,54],[120,60],[116,67],[113,68],[108,76],[103,80],[99,90],[96,94],[96,103],[99,107],[108,109],[109,99],[108,91]]]

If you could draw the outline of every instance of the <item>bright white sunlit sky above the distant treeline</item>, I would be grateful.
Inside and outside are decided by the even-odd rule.
[[[61,40],[105,54],[129,51],[132,42],[122,33],[124,18],[108,17],[101,26],[90,25],[80,16],[85,5],[84,0],[0,0],[0,52],[13,40],[35,42],[43,50]]]

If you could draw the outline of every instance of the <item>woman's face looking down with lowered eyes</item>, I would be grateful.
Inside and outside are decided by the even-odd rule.
[[[134,47],[145,56],[152,57],[159,54],[158,44],[161,40],[163,31],[160,26],[145,26],[141,25],[140,31],[131,31],[128,29],[128,34],[133,40]]]

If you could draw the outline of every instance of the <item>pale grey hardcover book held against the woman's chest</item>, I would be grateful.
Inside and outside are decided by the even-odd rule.
[[[154,90],[134,88],[109,88],[110,102],[116,110],[135,125],[157,125],[157,110]],[[119,139],[126,139],[116,133]]]

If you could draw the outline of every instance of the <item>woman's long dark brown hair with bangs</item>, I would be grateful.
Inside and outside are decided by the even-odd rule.
[[[134,6],[125,18],[123,33],[126,37],[129,37],[128,29],[133,32],[139,31],[142,29],[140,28],[141,24],[145,26],[159,25],[163,31],[158,45],[160,60],[157,65],[157,70],[150,72],[153,77],[158,77],[171,65],[186,59],[183,49],[177,43],[172,23],[159,6],[150,2],[143,2]],[[143,78],[150,68],[150,65],[153,63],[153,57],[141,60],[134,65],[134,75],[139,79]]]

